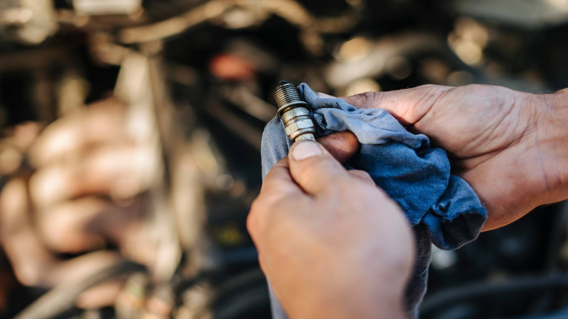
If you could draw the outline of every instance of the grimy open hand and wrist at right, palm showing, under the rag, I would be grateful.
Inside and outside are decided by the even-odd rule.
[[[567,89],[536,95],[488,85],[424,85],[343,99],[384,108],[446,149],[453,174],[487,208],[483,230],[568,198]]]

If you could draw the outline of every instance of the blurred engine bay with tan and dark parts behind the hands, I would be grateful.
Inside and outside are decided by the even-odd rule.
[[[87,104],[118,108],[120,134],[125,145],[140,146],[134,154],[145,174],[139,184],[99,197],[143,210],[158,255],[149,263],[136,253],[130,258],[123,250],[132,250],[108,234],[97,251],[58,250],[53,257],[63,265],[119,251],[122,258],[108,267],[64,284],[22,283],[13,256],[26,260],[35,254],[30,247],[57,243],[18,230],[41,228],[52,217],[22,208],[29,219],[22,221],[4,207],[0,315],[269,317],[245,220],[260,190],[261,134],[275,116],[280,79],[335,96],[427,83],[545,93],[568,86],[566,34],[566,0],[2,1],[2,187],[21,184],[31,198],[43,196],[45,187],[33,187],[38,163],[73,143],[41,144],[49,124],[79,119]],[[73,123],[81,123],[77,132],[91,130],[93,143],[114,132],[101,128],[106,121],[89,121]],[[421,317],[568,317],[567,227],[568,206],[558,203],[460,250],[435,249]],[[111,305],[77,306],[80,293],[116,279],[123,284]]]

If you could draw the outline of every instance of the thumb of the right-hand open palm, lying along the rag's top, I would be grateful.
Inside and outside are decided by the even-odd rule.
[[[412,125],[431,110],[438,97],[450,89],[453,87],[428,84],[412,89],[365,92],[340,99],[357,108],[382,108],[400,124]]]

